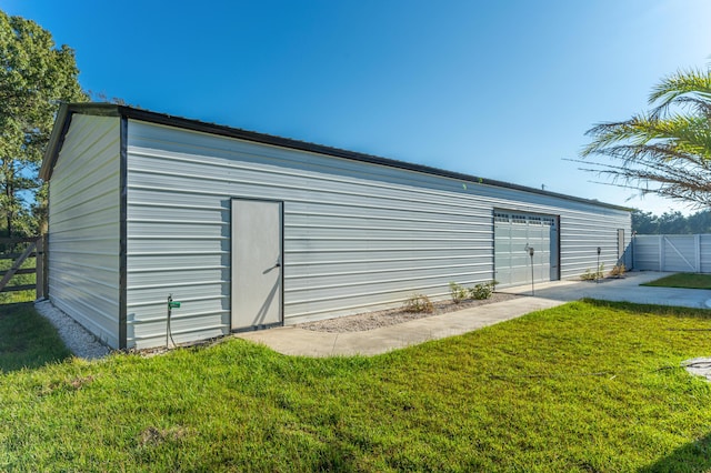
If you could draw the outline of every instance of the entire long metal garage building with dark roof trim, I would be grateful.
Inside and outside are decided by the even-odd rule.
[[[395,306],[448,283],[608,268],[625,208],[129,107],[62,105],[49,298],[112,348]]]

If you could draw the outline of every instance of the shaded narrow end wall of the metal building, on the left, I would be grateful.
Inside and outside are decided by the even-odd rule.
[[[74,115],[49,193],[49,296],[119,341],[119,119]]]

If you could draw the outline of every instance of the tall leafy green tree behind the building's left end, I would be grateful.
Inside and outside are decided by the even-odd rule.
[[[8,234],[38,230],[38,168],[61,101],[86,101],[74,51],[0,11],[0,209]],[[41,198],[41,195],[39,195]]]

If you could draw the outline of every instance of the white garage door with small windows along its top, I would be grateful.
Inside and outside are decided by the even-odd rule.
[[[501,286],[559,279],[558,225],[553,215],[494,212],[494,269]]]

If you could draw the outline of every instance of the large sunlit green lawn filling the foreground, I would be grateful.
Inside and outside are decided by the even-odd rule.
[[[1,471],[711,469],[711,311],[583,301],[373,358],[241,340],[0,374]]]

